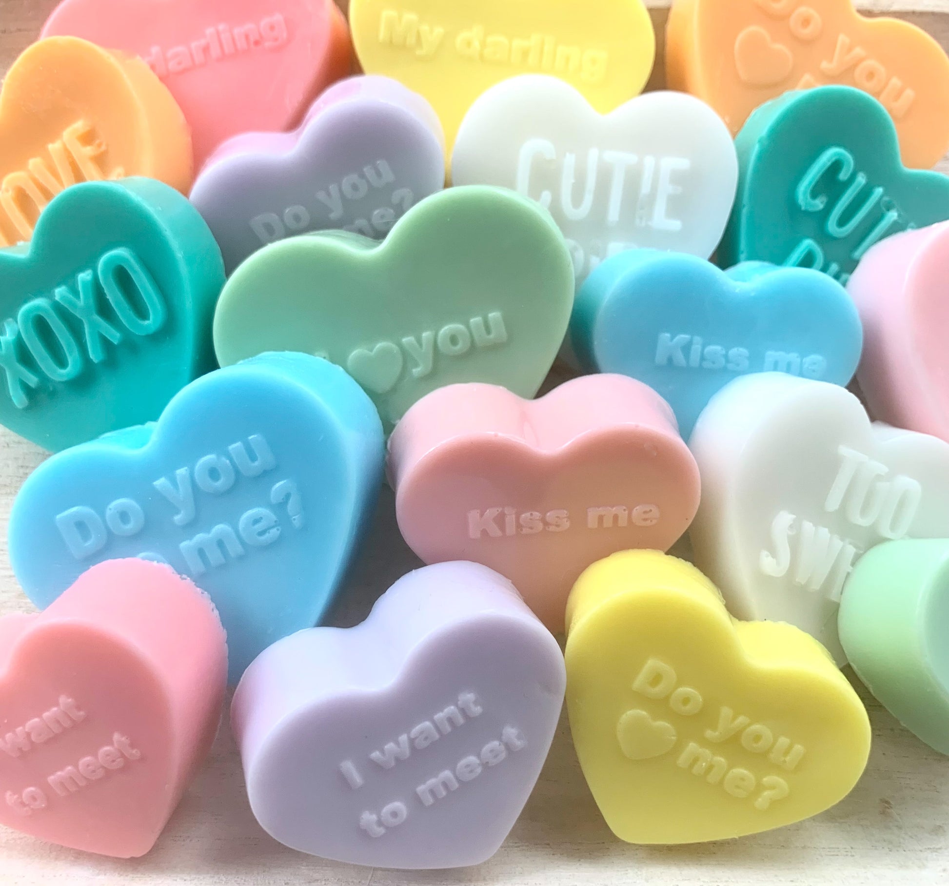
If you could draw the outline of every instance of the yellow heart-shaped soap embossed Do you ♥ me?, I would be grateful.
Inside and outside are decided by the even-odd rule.
[[[689,563],[623,551],[570,594],[573,744],[610,829],[694,843],[803,821],[842,800],[870,748],[866,711],[790,624],[741,622]]]

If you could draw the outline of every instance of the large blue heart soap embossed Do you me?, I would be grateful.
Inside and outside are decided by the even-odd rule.
[[[198,378],[158,424],[42,464],[13,502],[10,562],[41,608],[93,563],[170,563],[214,600],[236,682],[326,612],[382,462],[379,416],[352,378],[306,354],[265,354]]]

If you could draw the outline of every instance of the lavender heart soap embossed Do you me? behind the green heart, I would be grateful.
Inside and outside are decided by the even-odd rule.
[[[331,86],[294,133],[226,141],[191,201],[214,231],[228,272],[277,240],[345,229],[381,239],[445,183],[431,105],[386,77]]]

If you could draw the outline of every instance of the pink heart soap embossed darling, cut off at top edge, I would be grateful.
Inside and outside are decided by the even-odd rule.
[[[191,124],[198,167],[226,138],[295,125],[352,64],[333,0],[63,0],[43,36],[138,55]]]

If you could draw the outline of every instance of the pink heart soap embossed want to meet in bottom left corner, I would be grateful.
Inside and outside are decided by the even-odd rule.
[[[0,619],[0,824],[117,858],[148,852],[211,748],[228,652],[167,565],[112,560],[41,615]]]

